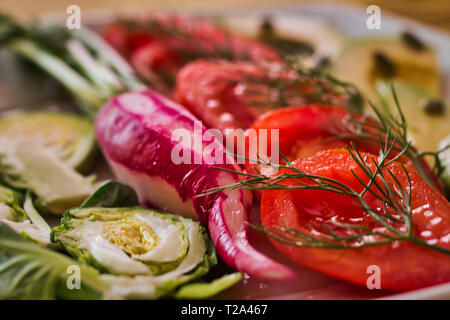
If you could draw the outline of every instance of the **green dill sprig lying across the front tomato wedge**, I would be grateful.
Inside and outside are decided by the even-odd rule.
[[[395,95],[395,90],[393,88],[392,90]],[[397,101],[396,96],[394,97]],[[340,128],[341,131],[335,132],[341,134],[341,138],[345,134],[345,138],[360,139],[362,137],[363,139],[370,139],[371,142],[379,146],[378,156],[363,155],[354,141],[350,141],[350,146],[346,146],[347,152],[362,172],[362,176],[360,176],[355,170],[351,170],[361,190],[356,190],[336,179],[306,173],[293,166],[291,161],[280,152],[280,156],[284,160],[280,164],[270,163],[258,154],[257,159],[237,156],[262,166],[275,168],[279,172],[278,175],[265,175],[258,169],[256,169],[255,174],[252,174],[214,167],[218,170],[240,175],[243,179],[233,184],[205,190],[199,196],[233,189],[328,191],[348,196],[349,201],[353,201],[356,207],[361,208],[370,217],[370,224],[348,223],[333,217],[327,220],[312,220],[305,227],[302,227],[304,229],[288,227],[283,221],[280,222],[281,226],[277,227],[252,224],[250,226],[276,241],[298,247],[353,249],[407,240],[450,255],[449,249],[431,244],[415,235],[411,209],[411,177],[405,165],[398,162],[407,179],[407,184],[404,186],[389,168],[389,165],[398,161],[401,157],[407,156],[410,159],[414,157],[418,161],[422,156],[407,141],[406,121],[401,113],[398,101],[399,120],[392,115],[378,113],[379,109],[373,105],[372,107],[375,108],[374,112],[379,117],[379,123],[366,124],[364,121],[353,118],[351,122],[354,125],[352,131],[349,131],[347,127]],[[333,130],[338,129],[339,127],[335,126]],[[347,133],[343,129],[346,129]],[[385,131],[383,132],[382,129]],[[374,135],[374,132],[378,135]],[[381,205],[377,205],[377,207],[382,208],[382,210],[373,208],[367,202],[368,195],[378,200]]]

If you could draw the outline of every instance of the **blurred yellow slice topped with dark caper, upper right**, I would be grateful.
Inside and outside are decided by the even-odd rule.
[[[435,51],[430,47],[416,50],[398,39],[353,40],[344,47],[330,72],[354,83],[372,102],[377,101],[375,82],[380,79],[403,80],[433,95],[440,93]]]

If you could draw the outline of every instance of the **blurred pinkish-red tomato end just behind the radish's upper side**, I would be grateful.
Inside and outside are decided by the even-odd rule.
[[[246,101],[246,78],[265,81],[267,75],[249,62],[197,60],[178,73],[174,98],[209,128],[248,128],[271,105],[252,107]],[[264,87],[253,87],[266,95]]]

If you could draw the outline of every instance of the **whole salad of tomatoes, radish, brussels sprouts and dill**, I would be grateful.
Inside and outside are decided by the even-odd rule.
[[[434,49],[288,20],[157,13],[70,31],[1,15],[0,43],[79,108],[0,118],[0,297],[203,299],[296,266],[364,287],[375,265],[384,290],[448,283]]]

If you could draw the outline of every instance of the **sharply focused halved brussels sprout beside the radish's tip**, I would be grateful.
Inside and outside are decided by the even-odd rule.
[[[143,208],[71,209],[52,239],[83,262],[128,275],[176,269],[190,247],[187,221]]]

